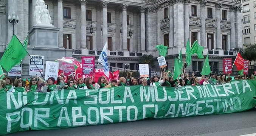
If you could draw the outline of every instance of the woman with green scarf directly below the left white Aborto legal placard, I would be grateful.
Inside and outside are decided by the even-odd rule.
[[[41,88],[42,93],[51,92],[51,91],[57,91],[59,89],[62,89],[65,84],[64,81],[62,81],[61,76],[58,76],[59,80],[61,81],[60,85],[54,84],[55,79],[53,77],[48,78],[47,82],[44,82],[44,86]]]

